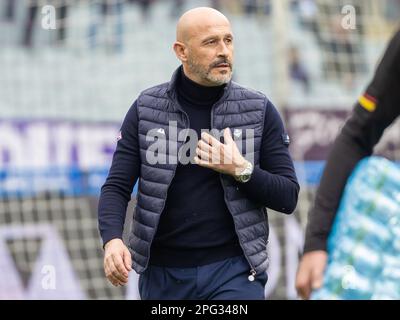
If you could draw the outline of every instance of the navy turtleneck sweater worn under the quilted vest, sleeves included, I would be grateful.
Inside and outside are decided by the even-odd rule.
[[[210,129],[211,108],[222,92],[223,86],[200,86],[182,72],[177,84],[178,102],[199,137],[201,129]],[[99,200],[99,229],[104,244],[122,238],[127,204],[140,175],[136,102],[124,119],[121,133]],[[284,136],[279,113],[268,102],[260,166],[254,168],[250,181],[238,183],[238,187],[260,206],[291,213],[299,185]],[[195,267],[240,254],[219,174],[196,164],[178,164],[151,247],[150,264]]]

